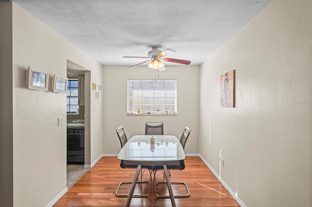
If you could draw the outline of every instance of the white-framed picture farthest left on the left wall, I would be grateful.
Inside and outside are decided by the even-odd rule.
[[[26,70],[25,86],[29,89],[48,90],[49,73],[28,67]]]

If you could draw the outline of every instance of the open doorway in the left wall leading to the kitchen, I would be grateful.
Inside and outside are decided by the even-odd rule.
[[[75,80],[72,81],[73,86],[67,93],[67,103],[66,103],[67,106],[66,186],[69,189],[73,185],[75,185],[75,183],[91,167],[90,90],[88,90],[85,87],[90,86],[91,71],[79,66],[78,64],[70,60],[67,60],[67,78],[69,80]],[[71,93],[73,94],[72,96]],[[79,136],[77,136],[76,134],[74,134],[73,136],[71,133],[68,134],[69,131],[74,132],[75,130],[76,131],[78,130],[79,132],[83,133],[79,133]],[[77,139],[77,143],[75,142],[76,140],[75,138]],[[83,151],[81,149],[83,149]],[[77,153],[80,153],[81,151],[83,155],[80,155],[81,153],[78,155],[76,151]]]

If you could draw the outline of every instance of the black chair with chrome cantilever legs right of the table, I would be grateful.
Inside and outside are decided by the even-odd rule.
[[[181,135],[181,138],[180,138],[180,143],[181,143],[181,145],[183,147],[183,150],[184,150],[186,141],[187,141],[187,139],[190,136],[190,133],[191,133],[191,130],[188,127],[185,127],[185,129],[183,130],[183,133]],[[154,186],[154,192],[155,192],[155,195],[158,198],[170,198],[170,196],[168,196],[168,195],[158,195],[157,192],[156,192],[156,185],[155,185],[156,183],[159,183],[159,184],[166,183],[166,181],[158,181],[156,179],[156,172],[159,171],[159,170],[163,170],[163,169],[164,169],[163,166],[153,166],[153,172],[154,172],[154,185],[153,185]],[[178,165],[168,165],[167,169],[168,170],[184,170],[185,169],[184,160],[180,160]],[[175,198],[181,198],[181,197],[188,197],[188,196],[190,196],[190,191],[189,191],[189,189],[188,189],[188,187],[187,187],[185,182],[170,181],[170,183],[171,184],[182,184],[186,188],[187,194],[177,194],[177,195],[175,195]]]

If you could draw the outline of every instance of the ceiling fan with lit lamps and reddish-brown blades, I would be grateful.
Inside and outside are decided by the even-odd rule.
[[[149,60],[146,60],[144,62],[138,63],[137,65],[131,66],[128,69],[132,69],[136,66],[142,65],[144,63],[150,62],[148,64],[148,67],[151,69],[159,69],[159,71],[165,70],[165,65],[160,61],[167,61],[172,63],[179,63],[184,65],[190,65],[191,61],[189,60],[180,60],[180,59],[174,59],[174,58],[167,58],[167,54],[172,54],[176,51],[172,49],[166,49],[164,51],[160,51],[157,49],[157,47],[152,47],[152,50],[147,52],[148,57],[137,57],[137,56],[123,56],[123,57],[134,57],[134,58],[149,58]]]

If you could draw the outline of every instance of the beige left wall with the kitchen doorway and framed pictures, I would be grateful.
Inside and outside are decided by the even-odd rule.
[[[57,124],[58,117],[63,117],[66,121],[66,94],[54,93],[51,90],[51,77],[54,74],[66,77],[67,59],[89,69],[91,83],[102,84],[103,69],[93,58],[15,3],[6,3],[9,4],[8,8],[12,9],[6,17],[13,17],[12,21],[6,18],[7,23],[13,25],[13,66],[2,68],[1,65],[1,75],[3,71],[13,73],[6,77],[8,81],[5,82],[8,92],[6,97],[13,96],[13,99],[3,100],[4,94],[1,93],[1,107],[11,104],[13,111],[11,115],[5,114],[4,117],[1,113],[1,129],[3,120],[13,120],[13,131],[11,136],[4,138],[1,130],[1,146],[3,140],[13,142],[13,149],[10,145],[6,146],[6,159],[10,160],[10,153],[13,155],[13,180],[5,181],[5,177],[2,177],[3,174],[12,174],[12,171],[3,169],[1,162],[1,196],[3,192],[8,195],[1,197],[1,205],[46,206],[66,190],[66,124]],[[1,32],[2,37],[3,30]],[[1,55],[2,49],[1,45]],[[3,59],[1,64],[2,62]],[[28,66],[50,73],[48,91],[31,90],[25,86],[25,71]],[[86,88],[86,99],[90,99],[90,112],[86,113],[86,120],[89,120],[88,124],[91,125],[86,130],[89,136],[89,140],[86,140],[89,143],[89,160],[86,164],[91,164],[102,154],[103,98],[100,96],[99,99],[95,99],[95,91],[91,91],[91,84]],[[10,134],[10,130],[6,131]],[[2,152],[1,149],[1,159]],[[2,188],[3,181],[12,182],[13,186],[12,183],[11,186],[7,185],[12,188]]]

